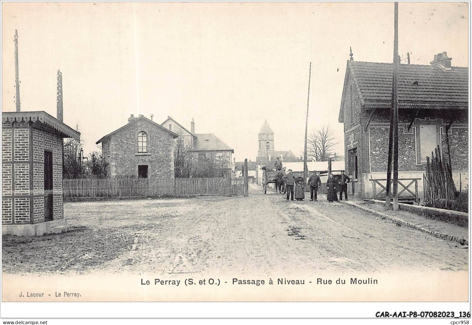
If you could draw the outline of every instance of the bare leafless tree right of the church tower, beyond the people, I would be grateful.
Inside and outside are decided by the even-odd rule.
[[[323,125],[319,130],[313,130],[308,139],[308,157],[314,161],[327,161],[336,158],[334,147],[336,142],[333,130],[329,125]]]

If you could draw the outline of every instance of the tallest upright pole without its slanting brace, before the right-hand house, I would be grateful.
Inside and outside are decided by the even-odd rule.
[[[395,38],[393,45],[393,209],[398,210],[398,2],[395,2]]]

